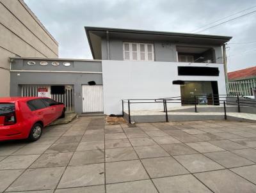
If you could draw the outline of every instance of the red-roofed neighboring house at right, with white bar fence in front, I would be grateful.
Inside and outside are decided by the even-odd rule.
[[[228,93],[253,96],[256,89],[256,66],[228,72]]]

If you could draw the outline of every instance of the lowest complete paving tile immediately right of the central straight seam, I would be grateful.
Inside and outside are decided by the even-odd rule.
[[[106,183],[148,179],[139,160],[106,163]]]

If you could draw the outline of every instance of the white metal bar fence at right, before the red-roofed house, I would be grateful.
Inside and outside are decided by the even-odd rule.
[[[253,96],[255,83],[255,80],[228,82],[228,94]]]

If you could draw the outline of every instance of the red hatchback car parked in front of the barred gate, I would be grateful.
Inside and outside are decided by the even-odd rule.
[[[45,97],[0,98],[0,141],[36,141],[42,128],[65,116],[65,106]]]

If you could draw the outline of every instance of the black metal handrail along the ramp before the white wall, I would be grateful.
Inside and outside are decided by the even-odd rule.
[[[128,104],[128,111],[129,111],[129,123],[131,123],[131,104],[156,104],[156,103],[163,103],[163,107],[164,107],[164,112],[165,112],[165,116],[166,116],[166,122],[168,122],[168,109],[167,109],[167,104],[168,103],[173,103],[173,104],[182,104],[182,102],[193,102],[193,105],[195,105],[195,112],[197,112],[197,106],[198,104],[205,104],[202,102],[198,102],[198,98],[200,96],[204,96],[205,95],[194,95],[194,97],[192,98],[189,96],[173,96],[173,97],[167,97],[167,98],[131,98],[131,99],[123,99],[122,100],[122,116],[124,116],[124,103]],[[216,100],[217,105],[223,104],[224,107],[224,118],[225,120],[227,120],[227,109],[226,109],[226,105],[229,104],[237,104],[238,107],[238,112],[240,111],[240,105],[241,104],[252,104],[250,105],[246,105],[248,107],[256,107],[256,101],[252,102],[252,100],[244,100],[241,101],[239,98],[243,97],[243,95],[211,95],[209,96],[211,97],[211,100],[214,104],[214,100]],[[186,98],[189,98],[189,100],[186,100]],[[225,98],[225,100],[222,100],[223,98]],[[236,98],[236,100],[227,100],[227,98]],[[153,102],[141,102],[141,101],[145,101],[145,100],[154,100]],[[138,101],[138,102],[136,102]],[[179,102],[176,102],[179,101]],[[190,104],[190,103],[189,103]]]

